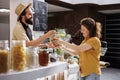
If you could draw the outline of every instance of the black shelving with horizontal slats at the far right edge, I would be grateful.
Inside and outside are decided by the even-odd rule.
[[[120,15],[106,15],[106,38],[107,52],[105,61],[111,63],[111,67],[120,67]]]

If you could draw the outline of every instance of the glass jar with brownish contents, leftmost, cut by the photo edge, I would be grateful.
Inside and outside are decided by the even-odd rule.
[[[10,68],[8,40],[0,40],[0,73],[7,73]]]

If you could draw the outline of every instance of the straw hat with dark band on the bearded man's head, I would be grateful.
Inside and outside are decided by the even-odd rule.
[[[21,13],[27,8],[30,7],[32,5],[32,3],[29,3],[27,6],[24,6],[22,3],[20,3],[16,9],[15,9],[15,13],[17,14],[18,18],[17,20],[19,20],[19,17],[21,15]]]

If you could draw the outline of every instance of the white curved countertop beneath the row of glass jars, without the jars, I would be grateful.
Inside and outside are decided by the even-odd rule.
[[[64,70],[67,70],[67,63],[57,61],[49,63],[48,66],[40,66],[19,72],[11,70],[8,73],[0,74],[0,80],[35,80],[55,73],[64,72]]]

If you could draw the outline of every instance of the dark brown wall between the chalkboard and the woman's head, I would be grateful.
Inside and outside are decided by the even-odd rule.
[[[87,16],[88,10],[82,10],[82,8],[80,11],[58,12],[54,17],[48,18],[48,29],[65,28],[68,34],[74,36],[76,32],[80,31],[80,20]],[[82,41],[79,36],[74,39],[74,43],[78,45]]]

